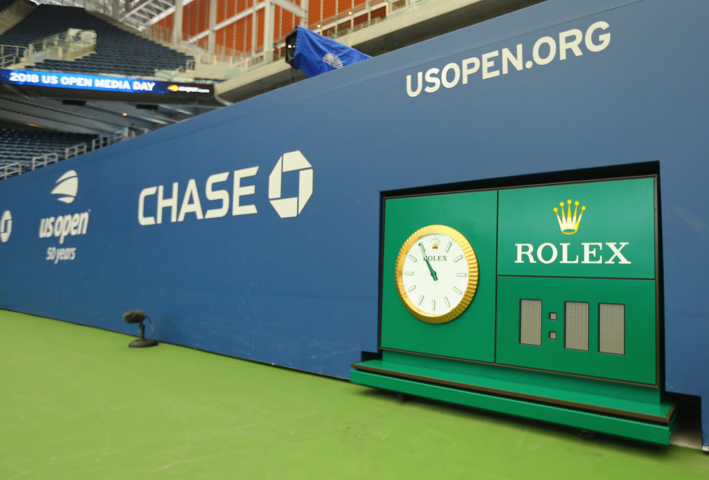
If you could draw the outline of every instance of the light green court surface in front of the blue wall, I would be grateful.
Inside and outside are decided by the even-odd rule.
[[[698,450],[62,321],[0,310],[0,338],[2,480],[709,479]]]

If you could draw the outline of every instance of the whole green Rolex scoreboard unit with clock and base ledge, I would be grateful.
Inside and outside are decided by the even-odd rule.
[[[353,382],[669,443],[657,178],[384,198],[381,358]]]

